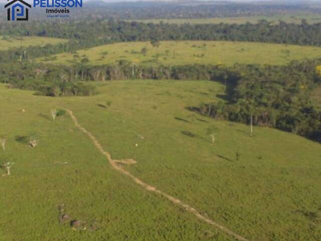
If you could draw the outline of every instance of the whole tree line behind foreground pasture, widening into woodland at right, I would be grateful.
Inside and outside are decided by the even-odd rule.
[[[217,119],[274,127],[321,142],[321,112],[311,91],[321,83],[321,59],[286,66],[244,65],[48,65],[28,60],[0,64],[0,82],[49,96],[92,95],[90,81],[118,79],[211,80],[223,83],[224,99],[191,109]],[[86,81],[86,82],[85,82]]]

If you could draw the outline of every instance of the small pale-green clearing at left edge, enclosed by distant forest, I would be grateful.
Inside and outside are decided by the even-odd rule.
[[[48,37],[11,37],[0,36],[0,51],[29,47],[29,46],[45,46],[47,44],[56,45],[59,43],[67,42],[66,39],[48,38]]]

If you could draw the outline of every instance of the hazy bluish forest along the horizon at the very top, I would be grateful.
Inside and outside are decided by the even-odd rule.
[[[0,7],[3,7],[0,4]],[[245,16],[294,15],[297,13],[321,13],[321,5],[308,1],[271,1],[263,3],[233,3],[211,1],[173,1],[173,2],[127,2],[108,3],[102,1],[84,2],[82,9],[73,9],[70,18],[83,20],[88,18],[117,20],[135,19],[184,19],[184,18],[221,18]],[[0,18],[5,12],[0,13]],[[40,8],[32,10],[31,21],[50,21]],[[4,17],[5,18],[5,17]]]

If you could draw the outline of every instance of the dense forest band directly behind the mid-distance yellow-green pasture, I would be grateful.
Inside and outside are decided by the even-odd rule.
[[[91,20],[84,22],[43,23],[28,25],[0,24],[0,35],[44,36],[69,39],[57,46],[17,48],[0,52],[0,61],[17,61],[26,51],[29,59],[114,42],[161,40],[224,40],[321,46],[321,23],[308,25],[258,24],[143,24],[124,21]],[[3,37],[4,38],[4,37]],[[25,54],[24,54],[25,55]]]

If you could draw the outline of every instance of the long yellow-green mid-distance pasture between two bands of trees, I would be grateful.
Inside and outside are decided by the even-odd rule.
[[[142,53],[143,48],[147,49]],[[119,60],[131,61],[140,65],[185,65],[213,64],[272,64],[283,65],[291,60],[317,58],[321,48],[282,44],[262,44],[227,41],[162,41],[159,47],[149,42],[128,42],[98,46],[77,51],[61,53],[37,61],[52,64],[103,65]]]

